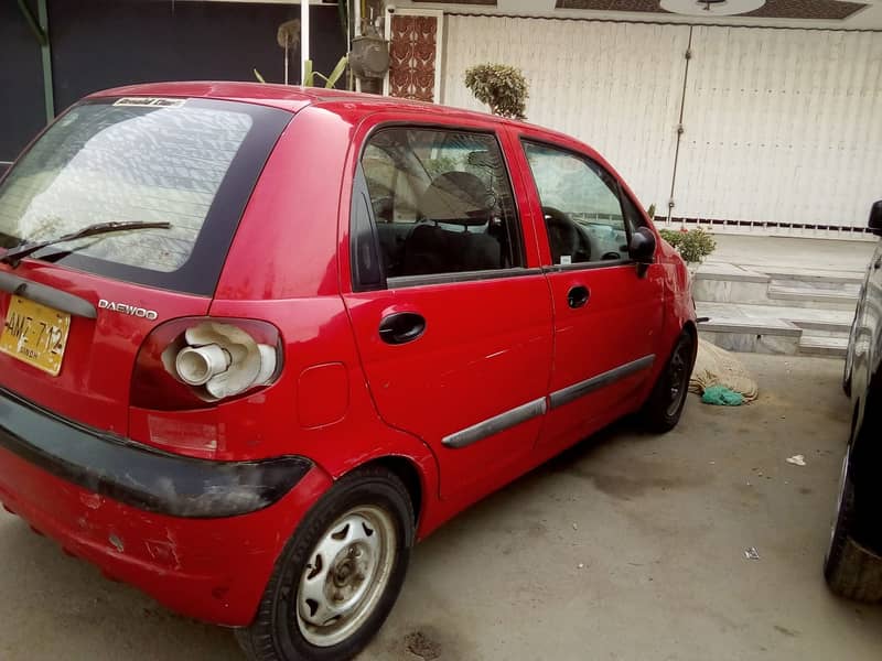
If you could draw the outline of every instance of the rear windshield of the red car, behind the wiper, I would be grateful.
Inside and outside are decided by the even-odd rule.
[[[291,113],[207,99],[111,98],[75,106],[0,184],[0,247],[96,223],[169,223],[34,254],[201,295],[217,285],[260,171]]]

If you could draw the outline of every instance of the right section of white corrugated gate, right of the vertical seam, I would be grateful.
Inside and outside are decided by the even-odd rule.
[[[675,215],[863,227],[882,34],[696,28]]]

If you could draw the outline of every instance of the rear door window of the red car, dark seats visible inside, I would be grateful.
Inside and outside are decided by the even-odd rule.
[[[375,133],[362,155],[386,278],[524,266],[520,221],[494,136]]]

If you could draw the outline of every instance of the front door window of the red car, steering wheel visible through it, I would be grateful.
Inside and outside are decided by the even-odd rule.
[[[628,259],[619,185],[593,161],[525,142],[555,264]]]

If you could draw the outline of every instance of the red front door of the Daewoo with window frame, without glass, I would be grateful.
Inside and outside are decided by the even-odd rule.
[[[541,203],[533,185],[526,155],[520,149],[521,140],[541,141],[583,153],[613,174],[615,172],[600,154],[570,138],[536,130],[510,131],[509,148],[515,154],[518,175],[529,196],[531,224],[539,237],[540,261],[548,266],[552,261],[548,237],[544,231]],[[620,177],[616,175],[616,178]],[[665,307],[663,277],[659,264],[652,264],[645,274],[638,274],[630,263],[546,274],[555,317],[555,359],[549,392],[560,391],[647,356],[656,356],[662,348]],[[590,299],[583,307],[571,308],[567,296],[577,286],[588,288]],[[667,351],[664,356],[667,356]],[[664,362],[664,358],[658,362]],[[538,443],[558,449],[567,447],[573,437],[584,437],[635,410],[635,402],[643,402],[647,383],[653,382],[647,377],[653,373],[654,364],[549,411]]]

